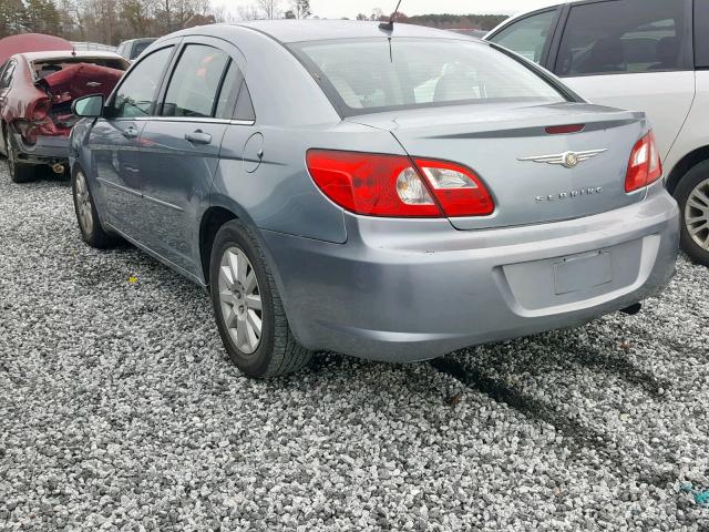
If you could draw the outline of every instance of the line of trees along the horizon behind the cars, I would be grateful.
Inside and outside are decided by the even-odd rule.
[[[0,0],[0,38],[25,32],[49,33],[72,41],[117,45],[126,39],[160,37],[215,22],[256,19],[318,18],[309,0],[254,0],[236,12],[215,9],[209,0]],[[360,13],[359,20],[387,20],[381,9]],[[504,20],[494,14],[395,13],[402,23],[434,28],[489,30]]]

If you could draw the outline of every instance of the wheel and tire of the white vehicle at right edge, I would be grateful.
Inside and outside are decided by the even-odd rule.
[[[675,190],[681,215],[681,247],[709,266],[709,161],[692,167]]]

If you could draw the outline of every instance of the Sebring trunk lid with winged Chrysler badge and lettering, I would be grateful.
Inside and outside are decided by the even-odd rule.
[[[450,218],[459,229],[577,218],[645,197],[643,190],[625,192],[630,152],[647,129],[641,113],[579,103],[475,104],[347,120],[390,131],[412,157],[473,170],[493,196],[495,211]],[[547,130],[565,125],[583,129],[566,134]]]

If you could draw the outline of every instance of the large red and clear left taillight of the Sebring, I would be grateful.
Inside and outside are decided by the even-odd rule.
[[[356,214],[438,218],[494,211],[480,177],[445,161],[310,150],[307,164],[325,195]]]

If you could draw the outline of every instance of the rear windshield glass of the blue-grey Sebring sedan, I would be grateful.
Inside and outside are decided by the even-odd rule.
[[[296,43],[291,49],[346,116],[508,100],[565,101],[517,60],[475,42],[337,40]]]

